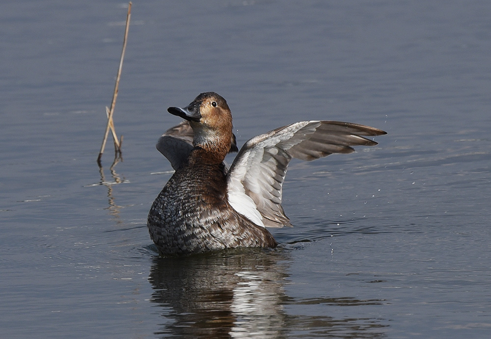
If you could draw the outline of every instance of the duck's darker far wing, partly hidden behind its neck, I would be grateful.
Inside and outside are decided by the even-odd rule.
[[[193,138],[194,132],[189,121],[184,120],[179,125],[166,130],[155,146],[170,161],[172,168],[177,170],[191,153]],[[230,152],[238,150],[235,135],[232,134]]]

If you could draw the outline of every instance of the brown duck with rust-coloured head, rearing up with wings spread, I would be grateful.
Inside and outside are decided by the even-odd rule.
[[[375,146],[367,137],[386,134],[339,121],[300,121],[249,139],[238,150],[232,113],[215,92],[186,107],[169,107],[183,118],[157,142],[175,170],[150,208],[147,227],[163,257],[237,247],[275,248],[267,228],[292,227],[282,186],[292,158],[311,161],[353,146]],[[227,166],[225,156],[238,154]]]

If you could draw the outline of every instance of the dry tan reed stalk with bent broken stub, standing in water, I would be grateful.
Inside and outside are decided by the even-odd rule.
[[[114,141],[114,153],[115,158],[121,157],[121,144],[123,142],[123,136],[121,135],[121,139],[118,140],[116,135],[116,131],[114,130],[114,121],[112,120],[112,116],[114,114],[114,106],[116,105],[116,98],[118,96],[118,88],[119,88],[119,79],[121,78],[121,70],[123,68],[123,59],[124,53],[126,51],[126,41],[128,39],[128,28],[130,27],[130,18],[131,18],[131,1],[128,4],[128,13],[126,15],[126,27],[123,38],[123,50],[121,51],[121,58],[119,60],[119,68],[116,76],[116,84],[114,85],[114,92],[112,94],[112,102],[111,107],[106,106],[106,114],[108,116],[108,124],[106,125],[106,132],[104,133],[104,139],[102,140],[101,151],[99,152],[99,156],[97,157],[97,163],[101,166],[101,157],[104,153],[104,148],[106,147],[106,141],[108,140],[109,130],[112,132],[112,139]]]

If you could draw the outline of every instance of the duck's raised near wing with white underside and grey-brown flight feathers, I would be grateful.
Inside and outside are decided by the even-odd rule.
[[[281,207],[282,185],[294,158],[314,160],[333,153],[352,153],[351,146],[374,146],[364,138],[386,134],[372,127],[338,121],[302,121],[248,140],[227,174],[230,205],[255,224],[292,226]]]

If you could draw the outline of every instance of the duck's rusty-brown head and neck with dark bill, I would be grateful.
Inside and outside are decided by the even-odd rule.
[[[195,147],[212,152],[221,160],[229,151],[237,151],[232,113],[225,99],[217,93],[201,93],[188,106],[169,107],[167,111],[189,121]]]

